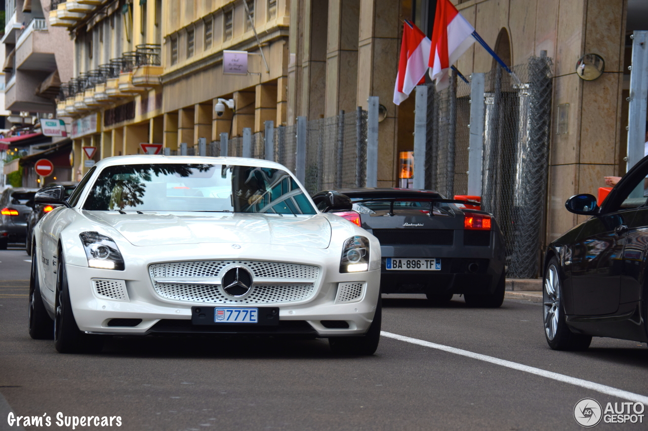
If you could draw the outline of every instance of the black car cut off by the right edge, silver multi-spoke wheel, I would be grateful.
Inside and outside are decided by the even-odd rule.
[[[590,216],[553,241],[544,260],[544,334],[555,350],[586,349],[592,337],[648,342],[648,157],[612,189],[570,197]]]

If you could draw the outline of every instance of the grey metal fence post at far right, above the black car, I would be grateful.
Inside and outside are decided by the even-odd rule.
[[[628,111],[628,160],[630,170],[643,159],[646,133],[646,98],[648,97],[648,31],[635,30],[632,34],[632,69],[630,71],[630,104]],[[631,197],[643,196],[643,183]]]

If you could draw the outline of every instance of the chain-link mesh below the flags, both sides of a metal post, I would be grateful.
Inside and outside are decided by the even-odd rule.
[[[532,57],[485,74],[481,208],[506,241],[508,274],[538,274],[544,226],[551,122],[551,60]],[[470,84],[452,78],[437,93],[428,86],[426,188],[448,197],[468,194]]]

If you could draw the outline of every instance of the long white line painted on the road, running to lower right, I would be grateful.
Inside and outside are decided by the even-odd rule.
[[[548,379],[553,379],[559,382],[573,384],[575,386],[581,386],[581,388],[586,388],[601,393],[607,393],[607,395],[612,395],[613,397],[627,399],[648,406],[647,396],[640,395],[638,393],[624,391],[617,388],[612,388],[612,386],[605,386],[605,384],[599,384],[595,382],[586,381],[583,379],[577,379],[576,377],[570,377],[568,375],[553,373],[552,371],[546,371],[540,368],[518,364],[517,362],[511,362],[510,360],[499,359],[488,355],[481,355],[481,353],[474,353],[468,350],[462,350],[450,346],[444,346],[443,344],[436,344],[429,341],[419,340],[417,338],[405,337],[404,335],[392,334],[385,331],[380,331],[380,335],[382,335],[382,337],[394,338],[395,340],[400,340],[411,344],[418,344],[419,346],[443,350],[448,353],[455,353],[456,355],[461,355],[472,359],[483,360],[484,362],[491,362],[491,364],[512,368],[513,370],[524,371],[526,373],[539,375],[541,377],[546,377]]]

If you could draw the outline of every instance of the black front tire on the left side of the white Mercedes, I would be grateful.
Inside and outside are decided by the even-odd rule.
[[[56,318],[54,319],[54,347],[59,353],[98,353],[104,346],[100,335],[89,335],[79,331],[72,312],[65,258],[58,250],[58,271],[56,271]]]

